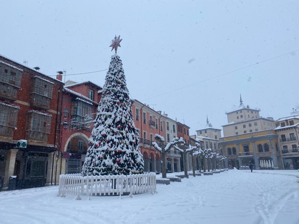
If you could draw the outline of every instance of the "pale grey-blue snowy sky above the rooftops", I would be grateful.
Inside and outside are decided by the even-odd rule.
[[[243,103],[274,119],[299,109],[299,1],[1,1],[0,54],[55,75],[107,69],[111,39],[134,99],[191,127]],[[106,72],[68,76],[103,85]],[[147,100],[146,100],[147,99]]]

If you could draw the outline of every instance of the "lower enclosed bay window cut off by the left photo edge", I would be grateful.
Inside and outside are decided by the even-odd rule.
[[[19,109],[18,106],[0,101],[0,136],[2,138],[13,138],[13,131],[17,127]]]

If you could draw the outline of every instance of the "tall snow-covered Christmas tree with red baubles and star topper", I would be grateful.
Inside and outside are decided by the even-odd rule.
[[[89,138],[89,148],[82,167],[86,175],[139,174],[144,161],[139,150],[138,132],[135,128],[129,90],[122,61],[116,54],[122,39],[112,40],[109,70],[103,86],[94,128]]]

